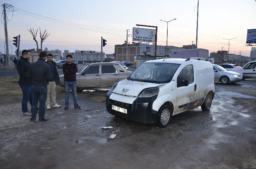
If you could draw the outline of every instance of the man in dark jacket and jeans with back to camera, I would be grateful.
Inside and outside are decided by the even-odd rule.
[[[30,121],[36,121],[37,104],[39,101],[39,122],[47,121],[49,118],[45,118],[45,101],[47,98],[47,85],[52,79],[50,66],[45,63],[47,53],[41,52],[39,59],[33,63],[28,72],[27,77],[32,78],[32,105],[31,105],[31,119]]]

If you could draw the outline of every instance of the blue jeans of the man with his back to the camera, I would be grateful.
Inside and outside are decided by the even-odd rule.
[[[33,86],[32,85],[32,106],[31,106],[31,118],[36,119],[37,104],[39,101],[39,120],[44,119],[45,115],[45,102],[47,99],[47,86]]]

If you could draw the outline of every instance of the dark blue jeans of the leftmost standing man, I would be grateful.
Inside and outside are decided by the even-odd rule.
[[[21,109],[22,112],[25,113],[28,111],[28,101],[30,105],[32,106],[32,93],[31,93],[31,86],[24,86],[19,85],[21,87],[23,98],[21,103]]]

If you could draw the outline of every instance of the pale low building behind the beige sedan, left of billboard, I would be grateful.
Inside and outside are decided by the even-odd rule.
[[[78,61],[78,64],[96,63],[101,61],[101,52],[91,50],[75,50],[75,52],[64,50],[63,59],[66,59],[66,55],[72,55],[73,60]],[[105,53],[102,52],[102,61],[104,60]]]

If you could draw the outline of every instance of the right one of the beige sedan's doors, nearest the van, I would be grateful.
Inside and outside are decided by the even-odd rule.
[[[100,74],[101,86],[112,86],[118,81],[119,73],[113,66],[113,64],[102,64]]]

